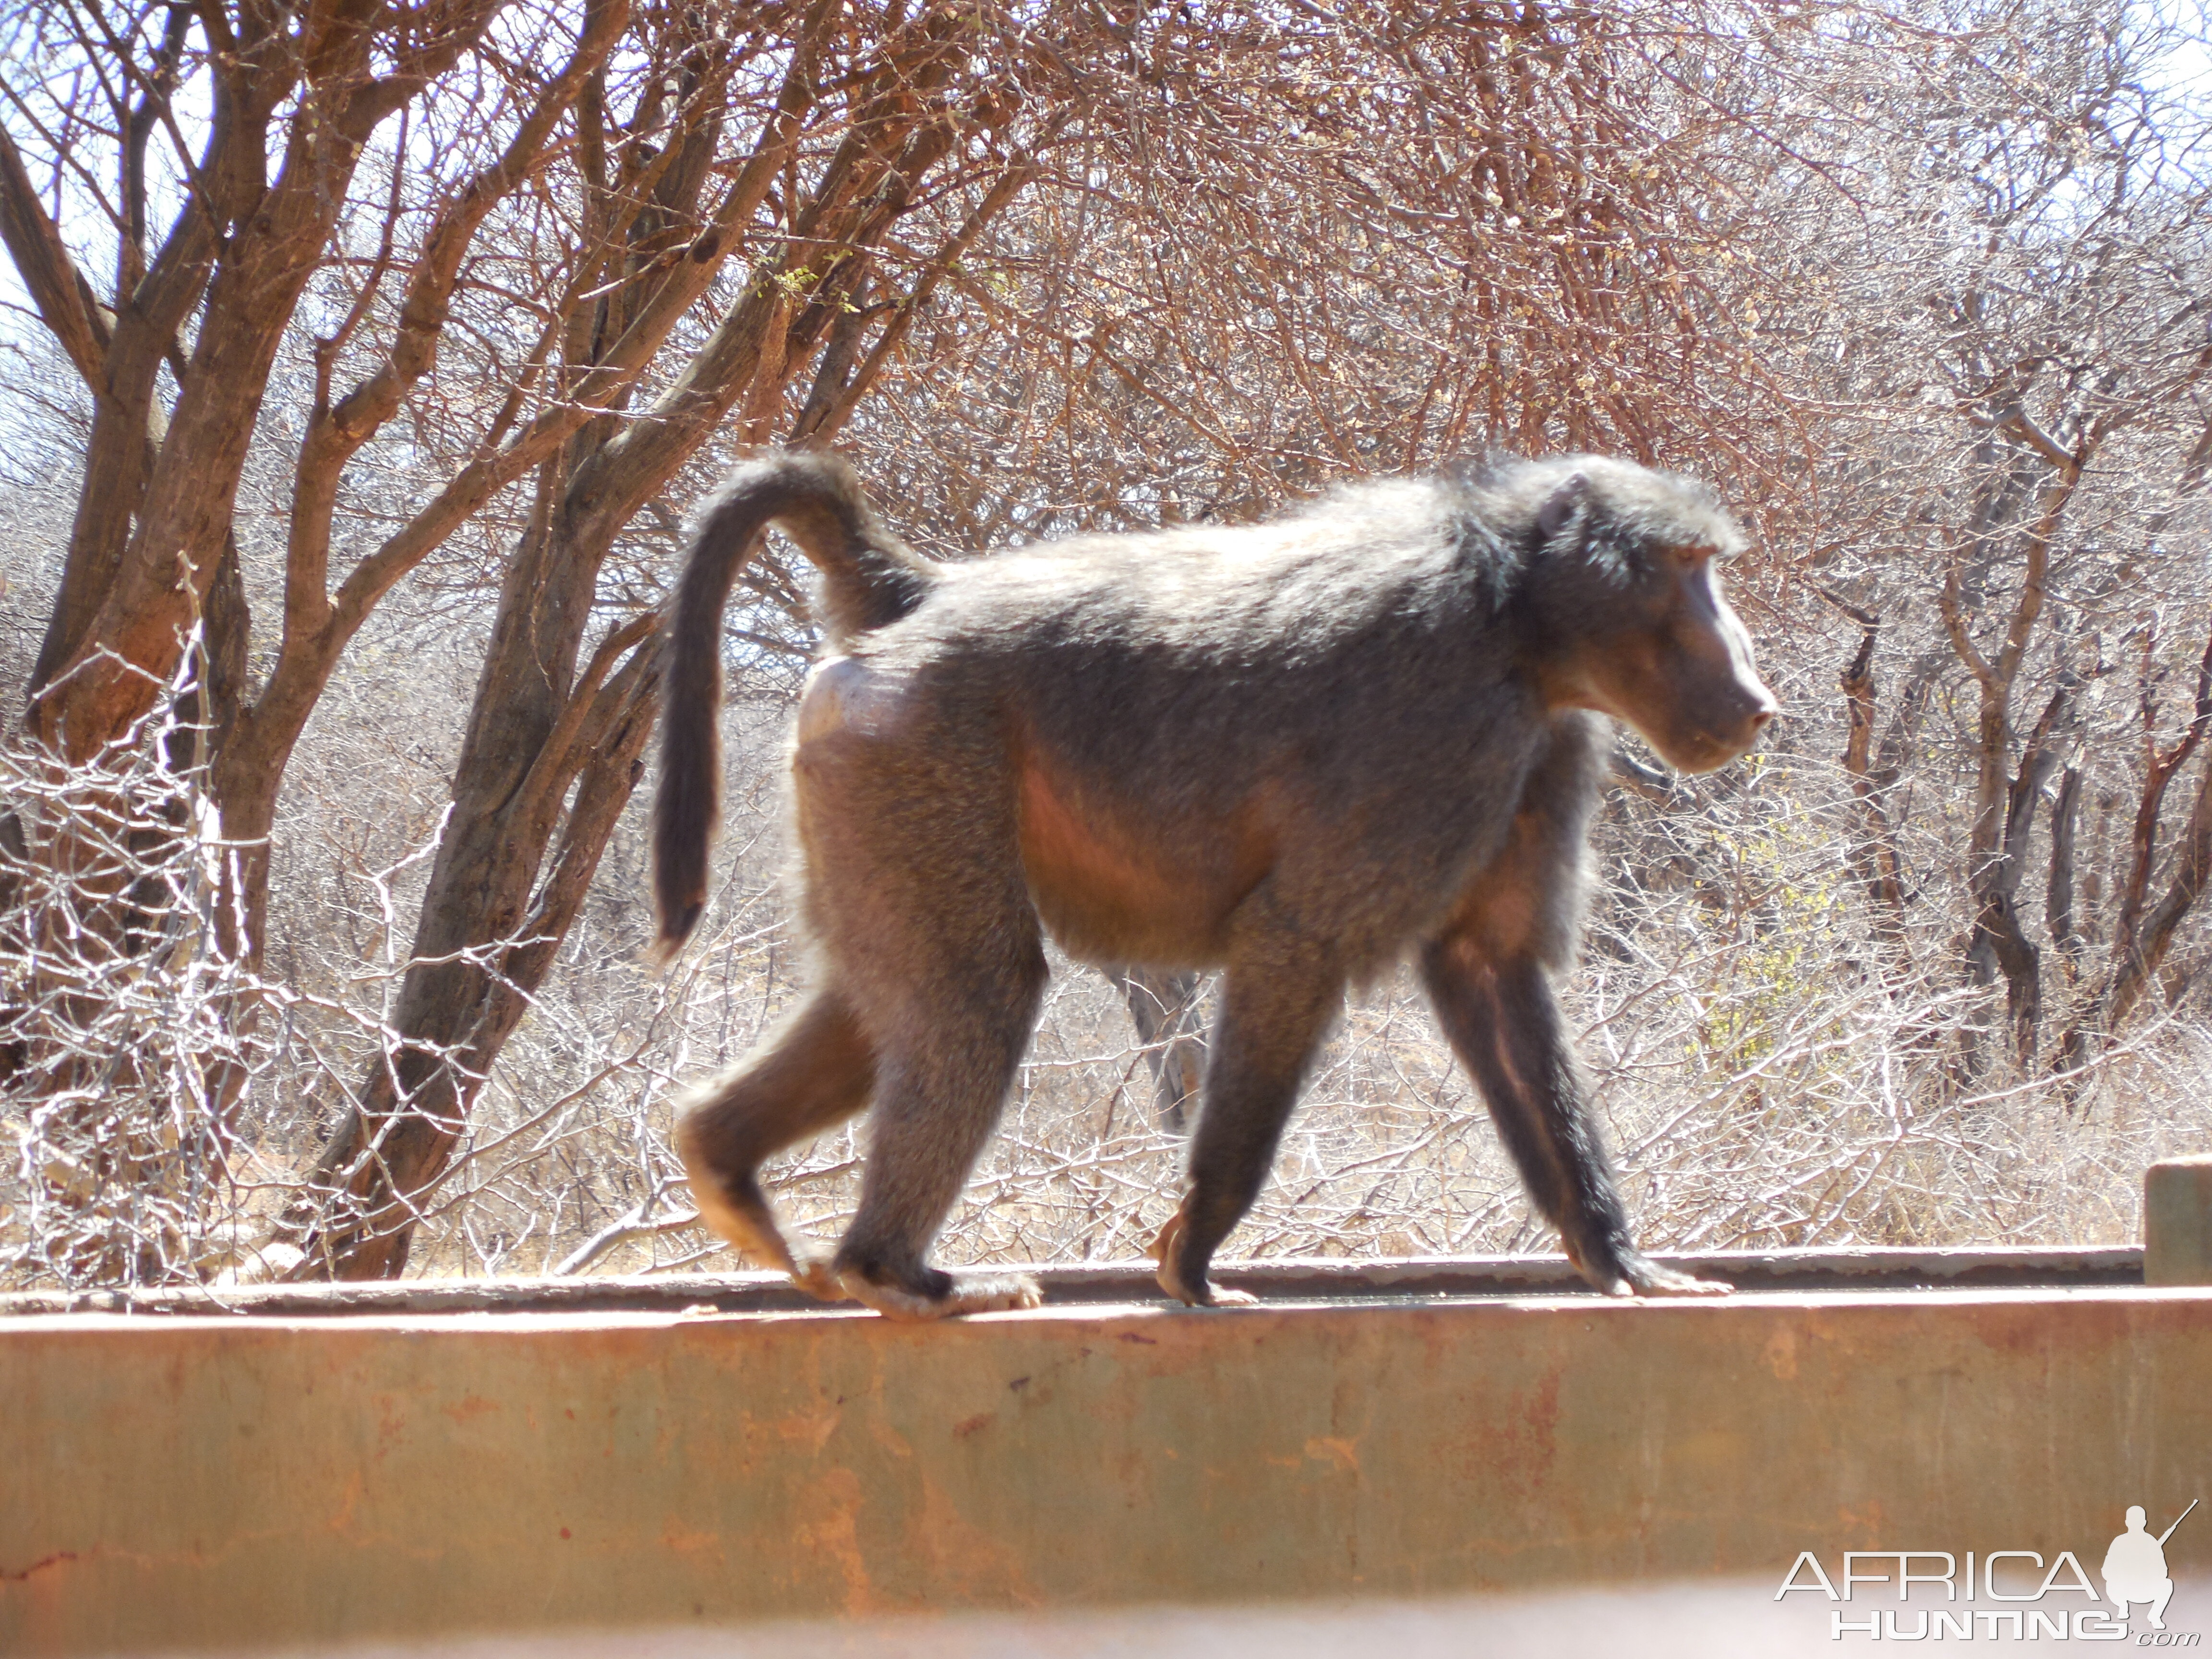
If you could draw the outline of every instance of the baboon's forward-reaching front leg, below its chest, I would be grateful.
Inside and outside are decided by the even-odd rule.
[[[1422,953],[1422,978],[1575,1270],[1608,1296],[1728,1294],[1637,1250],[1542,962],[1524,953],[1493,962],[1469,940],[1447,938]]]

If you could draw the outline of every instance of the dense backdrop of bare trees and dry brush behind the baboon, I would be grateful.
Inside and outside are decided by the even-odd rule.
[[[0,679],[40,688],[0,783],[0,1274],[701,1259],[666,1097],[796,973],[805,582],[774,542],[741,575],[730,945],[659,982],[624,967],[650,639],[730,453],[830,438],[947,557],[1489,445],[1714,478],[1790,719],[1694,785],[1621,761],[1575,1006],[1646,1208],[1699,1243],[2126,1225],[2199,1133],[2212,967],[2212,226],[2170,29],[18,7],[0,232],[44,345],[0,343],[0,509],[33,469],[75,502],[18,535],[51,588],[0,595],[0,655],[38,646]],[[1157,1228],[1192,991],[1060,982],[962,1250]],[[1354,1000],[1254,1248],[1528,1248],[1471,1115],[1407,987]],[[827,1221],[852,1164],[772,1179]]]

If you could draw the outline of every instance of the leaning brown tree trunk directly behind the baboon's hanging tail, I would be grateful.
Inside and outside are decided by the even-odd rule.
[[[757,261],[743,296],[684,374],[655,409],[619,429],[595,422],[540,471],[538,509],[500,593],[389,1053],[323,1150],[321,1214],[303,1208],[290,1221],[305,1250],[303,1272],[378,1279],[405,1270],[425,1194],[447,1170],[493,1057],[551,967],[641,770],[637,754],[657,706],[657,641],[639,641],[641,628],[637,637],[617,630],[599,657],[611,664],[619,641],[628,650],[622,672],[604,690],[588,672],[575,681],[599,564],[732,409],[765,431],[832,325],[858,310],[854,296],[872,276],[876,246],[914,206],[929,170],[973,133],[945,102],[958,60],[947,46],[962,27],[958,13],[925,13],[883,46],[869,106],[812,199],[792,204],[790,237]],[[1026,157],[1015,155],[925,263],[914,292],[887,310],[858,372],[856,343],[830,354],[805,400],[812,440],[843,425],[914,305],[1029,177]],[[675,219],[684,206],[675,204]],[[593,349],[588,336],[573,343]],[[562,796],[580,770],[564,821]],[[540,885],[555,830],[562,847]]]

